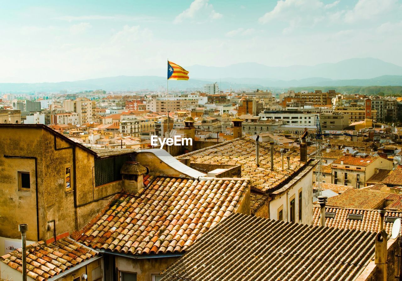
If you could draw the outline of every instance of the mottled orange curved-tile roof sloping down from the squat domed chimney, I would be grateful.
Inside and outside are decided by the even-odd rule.
[[[247,190],[243,179],[156,177],[141,194],[121,196],[78,241],[120,253],[182,252],[236,212]]]

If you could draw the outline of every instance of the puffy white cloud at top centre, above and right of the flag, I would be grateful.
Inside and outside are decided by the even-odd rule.
[[[205,21],[206,18],[211,20],[222,18],[222,14],[213,9],[212,4],[208,0],[194,0],[190,7],[178,14],[173,23],[181,23],[186,19]]]

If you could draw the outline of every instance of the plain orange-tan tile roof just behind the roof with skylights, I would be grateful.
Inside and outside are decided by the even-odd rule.
[[[341,207],[350,209],[384,209],[391,205],[395,200],[400,200],[402,195],[350,188],[342,194],[328,198],[327,206]]]

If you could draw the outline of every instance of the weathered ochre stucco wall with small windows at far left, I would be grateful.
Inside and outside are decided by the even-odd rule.
[[[56,142],[55,142],[56,141]],[[19,238],[18,224],[28,223],[27,240],[47,240],[84,227],[116,192],[121,181],[94,187],[94,155],[59,136],[36,127],[0,128],[0,236]],[[37,158],[38,203],[35,190]],[[74,165],[75,164],[75,165]],[[71,188],[66,188],[66,167],[71,167]],[[29,171],[31,188],[18,190],[18,171]],[[105,200],[99,200],[103,198]],[[37,212],[39,206],[39,238]],[[47,230],[48,221],[50,230]]]

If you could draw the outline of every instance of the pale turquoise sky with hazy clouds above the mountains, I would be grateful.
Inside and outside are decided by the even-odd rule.
[[[0,83],[257,62],[402,66],[402,0],[0,0]],[[246,75],[245,75],[246,76]]]

